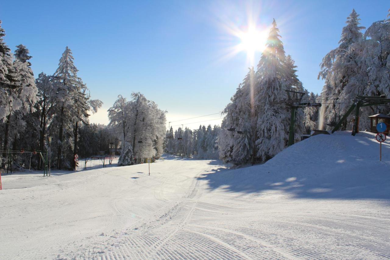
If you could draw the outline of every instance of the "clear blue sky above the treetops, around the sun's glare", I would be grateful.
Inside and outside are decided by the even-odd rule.
[[[245,30],[249,16],[258,28],[278,23],[298,77],[319,93],[319,63],[337,46],[353,8],[362,26],[383,20],[382,1],[3,1],[0,20],[12,52],[26,45],[32,69],[52,74],[66,46],[92,98],[104,102],[92,122],[107,123],[119,94],[141,92],[168,110],[168,121],[221,111],[248,71],[246,53],[227,57],[239,43],[226,26]],[[250,14],[250,15],[248,15]],[[255,53],[254,66],[261,56]],[[183,120],[195,128],[201,120]],[[218,123],[205,121],[202,124]]]

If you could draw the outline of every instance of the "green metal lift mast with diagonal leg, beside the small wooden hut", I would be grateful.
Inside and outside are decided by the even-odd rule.
[[[347,117],[355,109],[355,116],[353,117],[352,135],[356,135],[359,132],[359,110],[360,107],[368,107],[374,105],[390,105],[390,98],[386,95],[381,96],[359,96],[357,95],[353,104],[348,108],[347,112],[340,118],[332,130],[332,134],[339,130],[342,123],[346,121]]]

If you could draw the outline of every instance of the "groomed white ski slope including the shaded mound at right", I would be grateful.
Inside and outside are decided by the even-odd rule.
[[[2,176],[1,259],[390,258],[390,142],[317,135],[266,164],[166,157]]]

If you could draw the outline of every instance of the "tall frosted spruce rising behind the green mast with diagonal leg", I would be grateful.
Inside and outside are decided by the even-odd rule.
[[[361,30],[365,27],[360,25],[359,15],[355,9],[347,17],[346,26],[342,28],[339,46],[325,55],[321,62],[321,71],[318,78],[325,80],[321,93],[321,100],[324,105],[321,107],[321,127],[330,129],[325,123],[335,122],[339,114],[344,114],[348,109],[347,102],[338,102],[340,105],[333,106],[333,100],[337,98],[355,98],[356,94],[363,94],[364,81],[357,80],[356,76],[360,70],[358,61],[358,45],[362,44],[363,34]],[[349,119],[350,121],[351,119]]]

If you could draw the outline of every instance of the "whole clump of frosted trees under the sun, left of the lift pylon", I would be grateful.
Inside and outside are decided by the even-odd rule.
[[[223,112],[217,144],[225,162],[254,164],[282,151],[287,145],[291,115],[285,105],[286,90],[308,93],[296,75],[294,60],[285,56],[275,20],[272,24],[257,71],[249,69]],[[297,112],[296,141],[314,127],[312,112]]]

